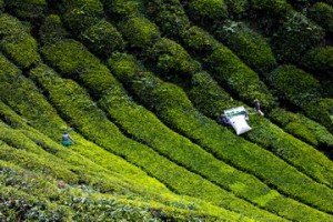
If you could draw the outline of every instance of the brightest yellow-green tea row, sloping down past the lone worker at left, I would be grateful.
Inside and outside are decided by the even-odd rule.
[[[84,158],[79,158],[78,160],[75,160],[75,152],[71,152],[71,150],[78,151],[80,150],[80,147],[83,147],[83,140],[80,140],[78,137],[78,134],[72,134],[73,138],[75,138],[75,140],[79,142],[79,144],[75,144],[73,147],[71,147],[71,149],[62,149],[59,148],[58,149],[58,144],[56,144],[53,141],[49,140],[48,138],[41,137],[39,133],[32,133],[33,130],[32,128],[30,128],[29,125],[27,125],[24,122],[22,122],[22,119],[20,117],[18,117],[17,114],[14,114],[11,110],[8,109],[8,107],[6,107],[3,103],[1,103],[2,105],[0,105],[0,110],[1,110],[1,117],[6,117],[6,121],[10,122],[11,125],[21,125],[21,128],[27,129],[24,131],[20,131],[22,133],[24,133],[27,137],[29,137],[31,140],[34,141],[34,143],[41,145],[44,150],[47,150],[50,153],[56,154],[57,157],[68,160],[68,162],[70,162],[71,164],[75,164],[78,165],[78,169],[75,170],[75,172],[80,171],[80,169],[82,169],[82,171],[84,171],[85,173],[90,173],[91,172],[99,172],[95,176],[97,178],[101,178],[102,176],[102,172],[105,171],[100,167],[95,167],[93,163],[90,163],[89,161],[84,160]],[[17,115],[17,117],[16,117]],[[20,128],[20,129],[21,129]],[[165,213],[167,209],[169,208],[168,205],[170,205],[172,208],[174,202],[178,202],[178,206],[179,209],[184,209],[184,211],[188,211],[186,209],[190,209],[191,205],[193,205],[193,202],[195,203],[195,211],[198,212],[204,212],[202,214],[212,214],[212,215],[220,215],[225,218],[225,212],[223,211],[223,209],[218,209],[216,206],[210,205],[210,204],[205,204],[205,203],[198,203],[198,200],[192,200],[189,199],[188,202],[185,202],[185,196],[182,196],[180,200],[178,196],[171,194],[171,192],[169,192],[164,185],[157,183],[157,181],[153,181],[153,179],[148,178],[144,173],[142,173],[142,171],[139,171],[138,169],[129,165],[127,162],[121,161],[121,159],[117,159],[117,158],[112,158],[111,153],[105,152],[105,151],[100,151],[97,152],[97,145],[88,145],[87,142],[84,143],[84,148],[81,148],[80,153],[88,153],[87,157],[90,158],[91,160],[95,161],[97,159],[99,159],[99,157],[103,157],[103,160],[99,160],[95,161],[98,164],[104,167],[105,169],[109,169],[111,171],[114,172],[119,172],[119,173],[113,173],[112,176],[117,176],[119,179],[122,179],[123,182],[122,183],[122,188],[127,189],[128,193],[130,190],[134,191],[135,193],[141,193],[142,195],[145,196],[145,200],[151,199],[155,201],[159,201],[160,203],[163,203],[165,205],[162,205],[163,208],[163,212]],[[83,151],[83,152],[82,152]],[[88,163],[88,164],[87,164]],[[91,168],[92,167],[92,168]],[[91,170],[88,170],[90,169]],[[88,172],[89,171],[89,172]],[[110,172],[109,172],[110,174]],[[49,175],[49,174],[48,174]],[[115,178],[115,179],[117,179]],[[119,181],[119,179],[114,180]],[[107,180],[105,182],[108,182],[109,180]],[[134,184],[138,181],[138,184]],[[114,183],[111,182],[111,183]],[[127,184],[128,183],[128,184]],[[147,186],[147,189],[144,188]],[[155,193],[153,193],[155,192]],[[132,199],[135,194],[131,194]],[[182,203],[183,205],[180,205],[180,203]],[[147,204],[147,208],[157,208],[160,209],[161,205],[155,205],[157,203],[152,204],[149,203]],[[140,203],[140,205],[142,206],[142,203]],[[173,211],[173,212],[172,212]],[[172,211],[170,211],[168,214],[176,214],[176,216],[180,216],[180,214],[195,214],[195,212],[191,211],[191,212],[179,212],[178,209],[172,209]],[[198,218],[201,218],[202,215],[198,215]]]

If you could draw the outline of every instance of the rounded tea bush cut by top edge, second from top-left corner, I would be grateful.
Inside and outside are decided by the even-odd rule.
[[[80,34],[104,17],[103,4],[99,0],[69,0],[61,6],[63,23],[74,34]]]

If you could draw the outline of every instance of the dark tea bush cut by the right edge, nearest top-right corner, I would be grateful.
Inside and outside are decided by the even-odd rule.
[[[326,31],[333,33],[333,6],[329,6],[324,2],[313,4],[310,9],[310,18]]]

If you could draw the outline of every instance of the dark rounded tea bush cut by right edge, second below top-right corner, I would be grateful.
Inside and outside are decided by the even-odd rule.
[[[316,75],[333,74],[333,47],[314,48],[306,52],[302,64]]]

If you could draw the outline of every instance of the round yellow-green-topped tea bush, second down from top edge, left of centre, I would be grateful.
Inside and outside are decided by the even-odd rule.
[[[159,28],[145,18],[134,17],[125,20],[120,29],[132,48],[145,49],[160,38]]]

